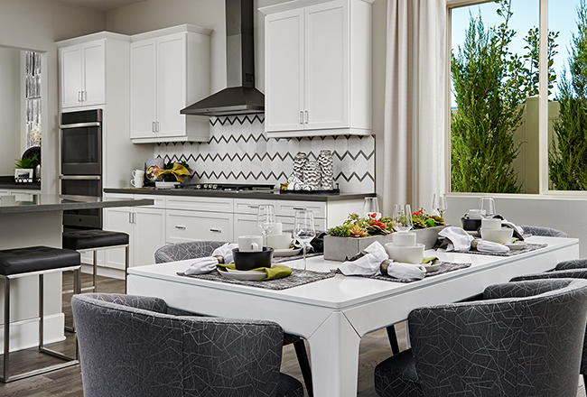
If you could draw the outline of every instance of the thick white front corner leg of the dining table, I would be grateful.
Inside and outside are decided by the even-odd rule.
[[[357,395],[359,343],[359,334],[340,312],[332,313],[308,338],[315,397]]]

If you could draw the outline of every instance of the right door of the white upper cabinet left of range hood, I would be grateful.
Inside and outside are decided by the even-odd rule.
[[[186,33],[157,39],[157,135],[181,136],[186,131]],[[195,71],[197,73],[197,71]]]

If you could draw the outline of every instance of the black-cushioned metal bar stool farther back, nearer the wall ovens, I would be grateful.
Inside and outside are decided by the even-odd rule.
[[[92,286],[82,290],[97,291],[96,276],[98,272],[98,250],[110,248],[126,248],[126,263],[125,263],[125,293],[126,293],[126,271],[128,270],[129,252],[128,252],[129,236],[122,232],[111,232],[107,230],[91,229],[91,230],[70,230],[62,234],[63,248],[75,250],[79,253],[91,251],[94,253],[93,278]],[[83,263],[89,264],[89,263]]]

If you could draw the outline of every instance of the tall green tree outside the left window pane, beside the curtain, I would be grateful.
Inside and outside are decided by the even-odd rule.
[[[451,117],[452,191],[517,193],[514,133],[526,98],[524,61],[508,51],[511,0],[499,0],[503,23],[486,28],[471,18],[463,48],[451,55],[457,110]]]

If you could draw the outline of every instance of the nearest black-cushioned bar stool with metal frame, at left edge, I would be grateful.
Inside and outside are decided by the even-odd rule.
[[[47,246],[33,246],[0,250],[0,279],[5,280],[5,324],[4,324],[4,369],[0,381],[8,383],[29,376],[44,374],[70,365],[79,364],[79,350],[76,342],[76,356],[70,357],[44,346],[43,341],[43,276],[51,272],[74,272],[74,291],[79,293],[79,253]],[[39,352],[66,360],[66,363],[50,365],[23,374],[10,376],[10,282],[14,279],[39,276]]]

